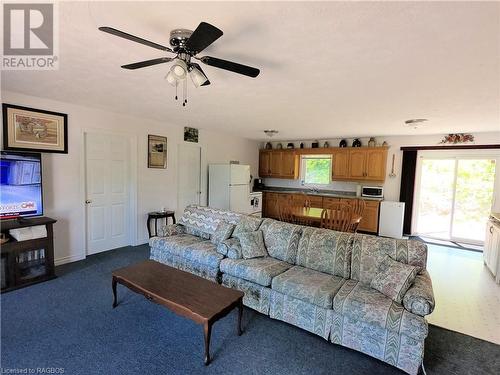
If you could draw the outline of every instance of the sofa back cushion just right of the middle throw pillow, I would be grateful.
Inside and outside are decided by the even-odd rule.
[[[295,264],[302,227],[273,219],[264,219],[259,228],[269,256]]]

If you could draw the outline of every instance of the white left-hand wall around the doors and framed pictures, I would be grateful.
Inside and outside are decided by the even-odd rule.
[[[137,238],[147,242],[147,212],[161,207],[178,210],[177,149],[183,143],[183,127],[102,111],[90,107],[3,91],[2,102],[68,114],[68,154],[43,154],[45,215],[57,219],[54,227],[55,258],[58,264],[85,257],[85,195],[82,171],[84,129],[121,132],[137,143]],[[179,110],[182,110],[181,108]],[[147,168],[147,136],[168,137],[167,169]],[[2,134],[3,137],[3,134]],[[202,147],[202,202],[207,196],[207,164],[239,160],[258,173],[258,142],[200,129]],[[2,143],[3,144],[3,143]],[[182,208],[181,208],[182,210]],[[177,211],[180,214],[180,211]],[[177,217],[178,218],[178,217]]]

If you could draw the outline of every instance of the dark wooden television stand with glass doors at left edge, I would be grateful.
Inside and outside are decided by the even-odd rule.
[[[9,239],[2,244],[1,292],[9,292],[56,277],[54,266],[53,224],[50,217],[18,218],[0,223],[2,234]],[[45,225],[47,237],[17,241],[9,230]]]

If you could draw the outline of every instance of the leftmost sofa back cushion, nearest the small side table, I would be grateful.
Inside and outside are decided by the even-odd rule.
[[[203,233],[211,235],[221,221],[229,224],[238,224],[241,214],[217,208],[191,205],[187,206],[179,219],[179,224],[188,228],[186,232]]]

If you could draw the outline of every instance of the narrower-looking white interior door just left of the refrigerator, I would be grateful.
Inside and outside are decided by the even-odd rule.
[[[201,148],[179,145],[177,208],[184,211],[190,204],[200,204],[201,199]]]

